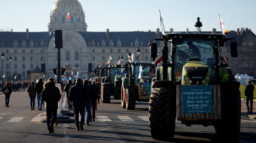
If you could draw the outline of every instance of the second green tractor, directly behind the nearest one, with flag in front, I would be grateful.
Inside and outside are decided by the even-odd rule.
[[[140,70],[140,66],[142,70]],[[134,110],[136,101],[150,101],[151,82],[155,74],[152,63],[125,63],[127,74],[121,80],[121,106]],[[139,74],[141,72],[141,78]]]

